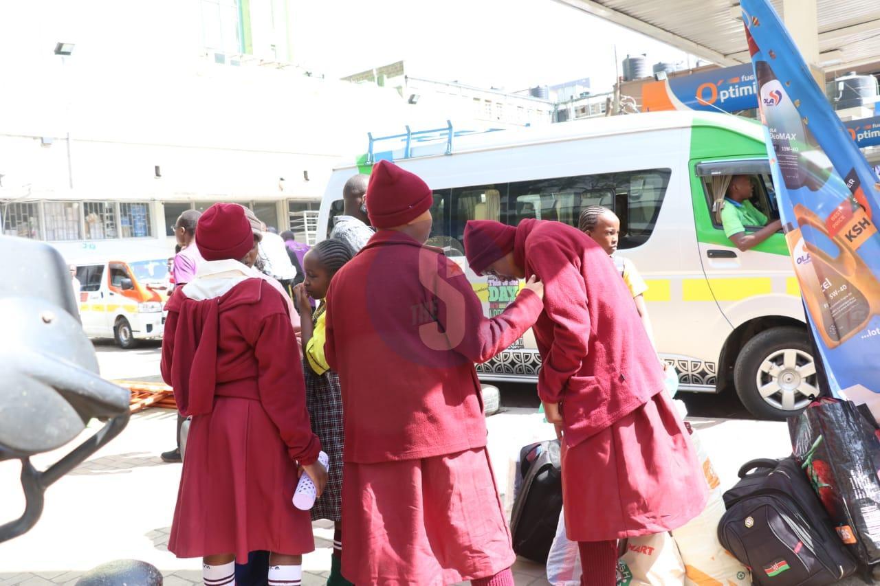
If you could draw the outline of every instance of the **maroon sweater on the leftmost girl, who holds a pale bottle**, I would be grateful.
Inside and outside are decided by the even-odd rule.
[[[305,409],[297,339],[282,294],[268,282],[247,279],[204,301],[178,291],[165,307],[162,378],[172,385],[180,413],[209,414],[217,397],[257,401],[290,458],[317,460],[321,444]]]

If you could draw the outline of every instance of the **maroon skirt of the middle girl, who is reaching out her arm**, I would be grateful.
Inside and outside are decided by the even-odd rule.
[[[516,556],[485,448],[342,474],[342,575],[434,586],[495,575]]]

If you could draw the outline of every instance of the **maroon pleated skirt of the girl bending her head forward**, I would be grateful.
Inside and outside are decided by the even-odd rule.
[[[671,531],[706,506],[696,450],[665,392],[574,447],[563,441],[561,456],[565,526],[573,541]]]

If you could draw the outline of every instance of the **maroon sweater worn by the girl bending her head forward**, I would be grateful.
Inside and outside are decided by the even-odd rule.
[[[663,389],[627,285],[601,246],[568,224],[523,220],[514,244],[526,278],[544,282],[534,326],[542,359],[538,393],[561,401],[569,445],[630,414]]]

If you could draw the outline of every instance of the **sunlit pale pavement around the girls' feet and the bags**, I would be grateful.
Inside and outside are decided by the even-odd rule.
[[[128,352],[108,346],[98,350],[105,377],[156,378],[155,346]],[[126,558],[150,562],[163,572],[165,584],[201,583],[200,560],[179,560],[166,549],[180,465],[164,464],[158,454],[172,446],[175,421],[175,414],[164,409],[136,414],[121,436],[49,487],[40,522],[26,535],[0,544],[0,586],[73,584],[85,570]],[[506,408],[487,421],[495,477],[510,509],[519,449],[526,443],[549,439],[554,432],[532,408]],[[705,417],[691,421],[725,488],[736,481],[737,470],[745,461],[790,452],[784,423]],[[93,422],[85,435],[99,427]],[[48,465],[58,455],[41,455],[35,464]],[[18,463],[0,464],[0,487],[4,487],[0,523],[4,523],[20,515],[24,506]],[[317,549],[304,556],[303,583],[309,585],[326,582],[333,543],[329,524],[315,524],[314,532]],[[514,570],[517,585],[548,583],[544,568],[538,564],[519,560]]]

